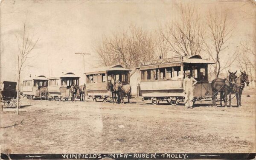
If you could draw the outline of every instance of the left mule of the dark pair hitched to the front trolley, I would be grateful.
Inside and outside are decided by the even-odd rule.
[[[236,84],[236,72],[229,72],[229,76],[226,79],[213,79],[212,80],[212,106],[216,107],[216,96],[221,93],[221,99],[223,98],[223,93],[225,95],[225,107],[227,107],[227,94],[228,90],[232,89]],[[221,104],[222,106],[222,104]]]

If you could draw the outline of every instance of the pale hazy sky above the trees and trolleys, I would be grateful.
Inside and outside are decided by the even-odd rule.
[[[85,71],[99,67],[94,46],[102,36],[137,25],[154,33],[160,26],[180,18],[178,0],[2,0],[0,3],[0,81],[17,81],[17,41],[21,44],[23,25],[26,35],[38,39],[23,68],[21,79],[44,75],[60,76],[73,72],[84,82]],[[255,37],[255,5],[241,0],[194,0],[202,18],[213,7],[227,8],[234,34],[228,55],[240,42]],[[255,2],[254,2],[255,3]],[[16,38],[17,36],[17,38]],[[77,52],[91,55],[77,55]],[[227,58],[224,57],[223,59]],[[236,66],[234,65],[234,71]]]

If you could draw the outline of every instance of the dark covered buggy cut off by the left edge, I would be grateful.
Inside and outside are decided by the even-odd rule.
[[[4,108],[17,107],[16,85],[17,85],[17,82],[14,82],[14,81],[3,81],[3,84],[1,85],[1,90],[0,90],[0,103],[3,104]]]

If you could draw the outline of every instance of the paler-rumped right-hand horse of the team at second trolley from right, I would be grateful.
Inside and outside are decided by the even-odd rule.
[[[122,85],[122,83],[116,83],[116,91],[119,93],[119,99],[121,101],[121,104],[124,104],[124,96],[127,95],[128,97],[128,103],[130,103],[131,98],[131,85],[125,84]]]

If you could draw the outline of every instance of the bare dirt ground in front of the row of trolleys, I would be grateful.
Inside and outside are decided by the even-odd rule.
[[[243,93],[239,108],[203,102],[185,109],[139,98],[131,104],[22,99],[27,112],[1,114],[1,152],[256,152],[255,104],[255,90]]]

